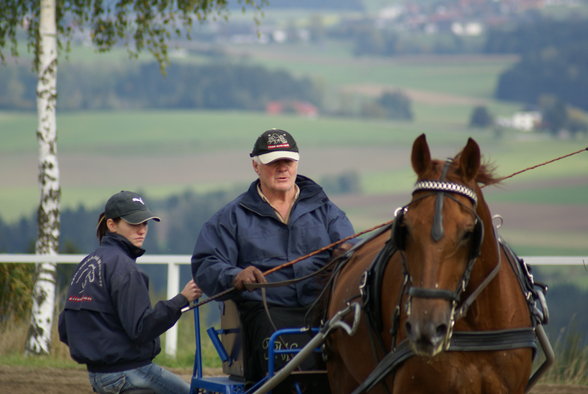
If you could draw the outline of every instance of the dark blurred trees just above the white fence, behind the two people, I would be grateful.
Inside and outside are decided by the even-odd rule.
[[[329,195],[361,191],[355,172],[327,176],[318,182]],[[186,190],[161,199],[151,199],[139,191],[146,194],[150,207],[163,219],[150,226],[145,249],[149,254],[191,254],[202,224],[246,187],[239,185],[207,193]],[[102,208],[78,205],[62,209],[59,253],[87,253],[98,246],[94,229]],[[0,253],[32,253],[36,231],[33,214],[15,222],[0,217]]]

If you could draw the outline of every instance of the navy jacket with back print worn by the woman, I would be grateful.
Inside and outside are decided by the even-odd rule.
[[[149,279],[135,262],[144,252],[109,233],[73,275],[59,315],[59,338],[72,358],[91,372],[149,364],[161,350],[159,336],[188,303],[178,294],[151,307]]]

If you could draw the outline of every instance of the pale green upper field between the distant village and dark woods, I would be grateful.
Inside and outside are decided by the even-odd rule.
[[[513,56],[352,58],[350,48],[340,45],[329,42],[323,46],[239,47],[239,51],[253,51],[266,67],[285,69],[333,86],[367,84],[489,100],[498,75],[516,61]]]

